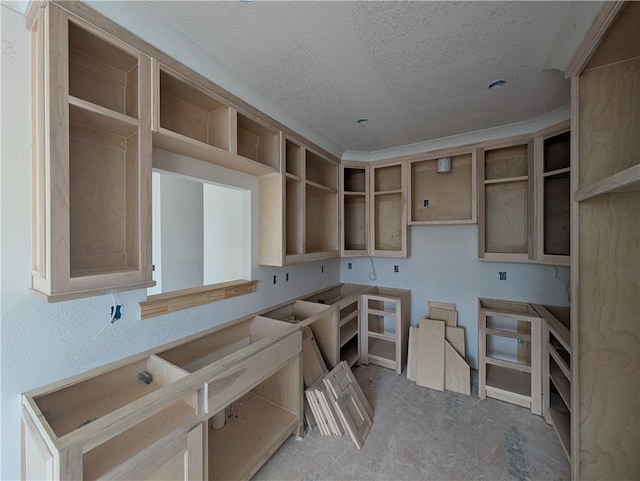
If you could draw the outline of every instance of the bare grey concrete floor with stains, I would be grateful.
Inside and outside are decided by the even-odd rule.
[[[358,450],[351,439],[289,438],[258,480],[564,480],[569,463],[553,428],[512,404],[416,386],[390,369],[353,370],[373,406]]]

